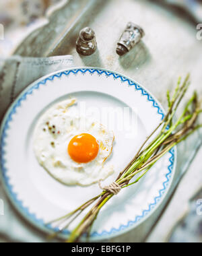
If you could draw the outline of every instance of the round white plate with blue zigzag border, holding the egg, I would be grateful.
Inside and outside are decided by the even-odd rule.
[[[86,109],[130,110],[137,121],[135,137],[115,118],[115,144],[107,164],[114,164],[110,184],[129,163],[147,135],[160,123],[164,112],[156,99],[137,82],[105,69],[60,71],[29,86],[5,116],[1,126],[1,173],[12,203],[38,228],[50,231],[46,223],[74,210],[98,195],[98,185],[68,187],[55,181],[39,166],[33,152],[33,131],[44,111],[61,100],[75,96]],[[98,115],[94,111],[94,118]],[[131,115],[132,117],[132,115]],[[103,120],[102,120],[103,121]],[[103,121],[104,125],[108,122]],[[126,121],[125,121],[126,122]],[[128,126],[127,126],[128,127]],[[164,199],[174,177],[176,150],[171,150],[137,185],[123,189],[100,212],[92,230],[92,241],[127,232],[148,218]],[[52,227],[53,228],[53,227]],[[70,227],[70,231],[72,226]],[[66,230],[64,234],[68,234]]]

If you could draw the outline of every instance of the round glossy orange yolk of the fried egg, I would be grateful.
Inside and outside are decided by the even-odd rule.
[[[88,133],[77,135],[69,142],[69,156],[79,164],[91,162],[98,156],[98,152],[98,141]]]

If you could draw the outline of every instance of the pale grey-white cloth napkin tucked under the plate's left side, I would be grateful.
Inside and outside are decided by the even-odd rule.
[[[70,55],[49,58],[19,56],[0,59],[0,122],[13,100],[36,79],[73,66]],[[0,180],[0,238],[13,242],[42,242],[45,236],[30,227],[9,203]],[[2,215],[3,214],[3,215]]]

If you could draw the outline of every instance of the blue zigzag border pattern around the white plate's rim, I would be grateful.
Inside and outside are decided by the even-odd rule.
[[[13,105],[13,108],[9,111],[9,115],[7,116],[5,125],[3,127],[3,132],[1,135],[1,141],[0,141],[1,171],[3,172],[3,179],[5,181],[5,186],[7,187],[9,195],[10,195],[11,199],[15,202],[15,205],[18,206],[20,211],[23,212],[24,215],[26,217],[28,217],[28,219],[30,219],[30,220],[32,220],[32,222],[36,223],[37,226],[41,226],[42,228],[50,228],[51,230],[54,230],[54,231],[59,231],[59,230],[57,228],[53,228],[50,225],[46,226],[46,224],[44,223],[43,220],[39,220],[38,218],[36,218],[35,214],[30,213],[30,210],[28,209],[28,207],[24,207],[23,202],[18,199],[18,195],[13,191],[13,186],[9,183],[9,177],[7,176],[7,168],[6,168],[6,160],[5,160],[6,152],[4,150],[4,147],[6,145],[7,130],[9,129],[9,123],[12,121],[12,117],[13,117],[13,115],[15,115],[17,108],[19,108],[21,106],[21,102],[25,101],[27,99],[27,96],[31,95],[34,90],[38,90],[40,88],[40,86],[46,86],[47,81],[53,81],[53,79],[55,79],[55,78],[61,78],[63,75],[70,75],[71,73],[76,75],[78,72],[83,73],[83,75],[86,74],[87,72],[89,72],[92,75],[94,73],[97,73],[98,75],[104,74],[104,75],[106,75],[106,77],[112,76],[112,77],[114,77],[114,79],[121,79],[122,83],[127,82],[129,86],[135,86],[135,90],[140,91],[141,95],[146,96],[147,100],[149,100],[149,102],[152,102],[152,105],[154,106],[154,108],[157,108],[158,114],[162,116],[162,119],[164,119],[164,113],[163,113],[162,109],[160,108],[160,106],[158,105],[158,103],[154,100],[154,98],[151,97],[151,95],[148,94],[148,92],[146,92],[143,88],[141,88],[141,86],[139,86],[138,84],[135,84],[135,82],[131,81],[127,77],[124,77],[123,75],[119,75],[117,73],[113,73],[112,71],[105,71],[102,69],[70,69],[67,71],[62,71],[55,75],[50,75],[46,79],[42,80],[41,82],[38,82],[38,84],[35,84],[34,86],[32,86],[32,88],[30,88],[24,92],[24,94],[18,99],[18,101],[15,102],[15,104]],[[158,202],[164,195],[166,188],[168,187],[171,175],[172,175],[172,170],[173,170],[173,166],[174,166],[174,149],[170,150],[170,155],[171,155],[170,156],[170,166],[168,166],[168,173],[166,174],[166,181],[164,181],[162,189],[159,191],[158,196],[156,196],[154,198],[154,201],[149,204],[148,209],[143,210],[141,216],[136,216],[135,220],[130,220],[126,225],[122,224],[118,229],[112,228],[110,231],[104,230],[101,233],[94,232],[92,234],[92,237],[105,236],[105,235],[114,234],[116,232],[121,232],[122,230],[125,230],[126,228],[129,228],[129,226],[133,226],[134,224],[136,224],[137,222],[142,220],[145,216],[147,216],[149,214],[149,212],[151,212],[151,210],[154,209],[154,207],[158,204]],[[65,230],[63,233],[69,234],[69,231]]]

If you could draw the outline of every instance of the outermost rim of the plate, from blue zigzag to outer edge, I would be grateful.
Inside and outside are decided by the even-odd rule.
[[[75,71],[75,72],[73,72]],[[17,210],[17,212],[19,214],[21,214],[25,220],[27,220],[30,224],[32,224],[32,226],[34,226],[35,228],[38,228],[39,230],[41,230],[42,232],[45,232],[47,234],[50,234],[50,232],[53,232],[53,228],[51,228],[50,226],[45,226],[43,220],[39,220],[36,218],[35,214],[31,214],[28,210],[28,208],[24,207],[22,205],[22,202],[20,200],[16,200],[14,197],[17,195],[15,194],[14,191],[11,191],[12,185],[9,185],[9,178],[8,177],[4,177],[6,175],[4,175],[4,172],[6,172],[6,170],[3,170],[3,131],[5,129],[5,125],[7,123],[7,119],[9,118],[9,115],[11,115],[11,112],[13,110],[13,107],[17,104],[17,102],[23,98],[23,96],[25,94],[28,94],[29,91],[32,90],[36,90],[40,87],[40,85],[45,85],[46,82],[49,80],[53,80],[55,79],[55,77],[60,77],[60,75],[69,75],[71,72],[72,73],[78,73],[79,71],[81,71],[81,73],[86,73],[87,71],[90,71],[90,73],[95,73],[97,71],[97,73],[99,73],[98,71],[101,71],[101,73],[105,73],[106,75],[110,76],[113,75],[115,79],[121,78],[122,82],[128,82],[129,86],[135,86],[138,87],[138,90],[141,90],[141,93],[143,96],[147,96],[147,100],[154,102],[153,106],[155,108],[158,108],[158,114],[162,115],[162,119],[165,115],[165,110],[162,107],[162,104],[156,99],[156,97],[149,92],[149,90],[147,90],[144,86],[142,86],[141,84],[139,84],[139,82],[136,82],[135,79],[131,79],[130,77],[127,77],[119,72],[116,71],[112,71],[110,69],[104,69],[101,67],[72,67],[69,69],[61,69],[59,71],[55,71],[53,73],[49,73],[48,75],[44,75],[42,77],[40,77],[39,79],[37,79],[35,82],[33,82],[32,84],[30,84],[30,86],[26,87],[21,93],[20,95],[14,100],[14,102],[11,104],[11,106],[9,106],[7,112],[5,113],[5,116],[3,117],[3,120],[1,121],[1,128],[0,128],[0,175],[1,175],[1,179],[2,179],[2,184],[3,184],[3,188],[5,189],[5,192],[7,194],[7,197],[9,198],[9,201],[11,201],[12,205],[15,207],[15,210]],[[66,72],[66,73],[65,73]],[[101,74],[100,73],[100,74]],[[60,74],[60,75],[57,75]],[[49,79],[48,79],[49,78]],[[35,87],[35,88],[34,88]],[[133,228],[136,228],[137,226],[139,226],[141,223],[145,222],[145,220],[147,220],[147,218],[149,218],[151,215],[153,215],[156,210],[158,210],[158,208],[160,207],[160,205],[162,205],[162,201],[164,201],[164,198],[166,197],[166,195],[168,195],[168,192],[170,191],[170,187],[172,185],[173,179],[174,179],[174,173],[176,170],[176,162],[177,162],[177,148],[176,146],[174,148],[172,148],[172,150],[170,150],[170,158],[169,158],[169,162],[170,165],[168,166],[168,170],[169,173],[166,174],[166,177],[171,174],[170,179],[168,179],[167,177],[167,181],[164,181],[163,185],[164,185],[164,189],[161,189],[159,191],[160,196],[155,197],[154,201],[155,203],[150,203],[149,204],[149,210],[144,210],[143,211],[143,216],[136,216],[135,220],[129,220],[127,225],[121,225],[119,227],[119,229],[117,228],[111,228],[110,231],[106,231],[104,230],[102,233],[98,234],[92,234],[90,240],[91,241],[101,241],[104,239],[108,239],[108,238],[114,238],[116,236],[119,236],[121,234],[125,234],[126,232],[129,232],[130,230],[132,230]],[[3,160],[3,161],[2,161]],[[166,187],[165,184],[168,183],[168,186]],[[164,192],[164,193],[162,193]],[[156,201],[156,199],[158,199],[158,201]],[[153,208],[150,209],[151,205],[154,205]],[[146,214],[148,212],[148,214]],[[140,220],[136,220],[136,219],[140,219]],[[51,229],[50,229],[51,228]],[[55,229],[55,231],[57,231],[57,229]],[[65,231],[63,234],[61,234],[61,237],[66,237],[69,234],[68,231]]]

